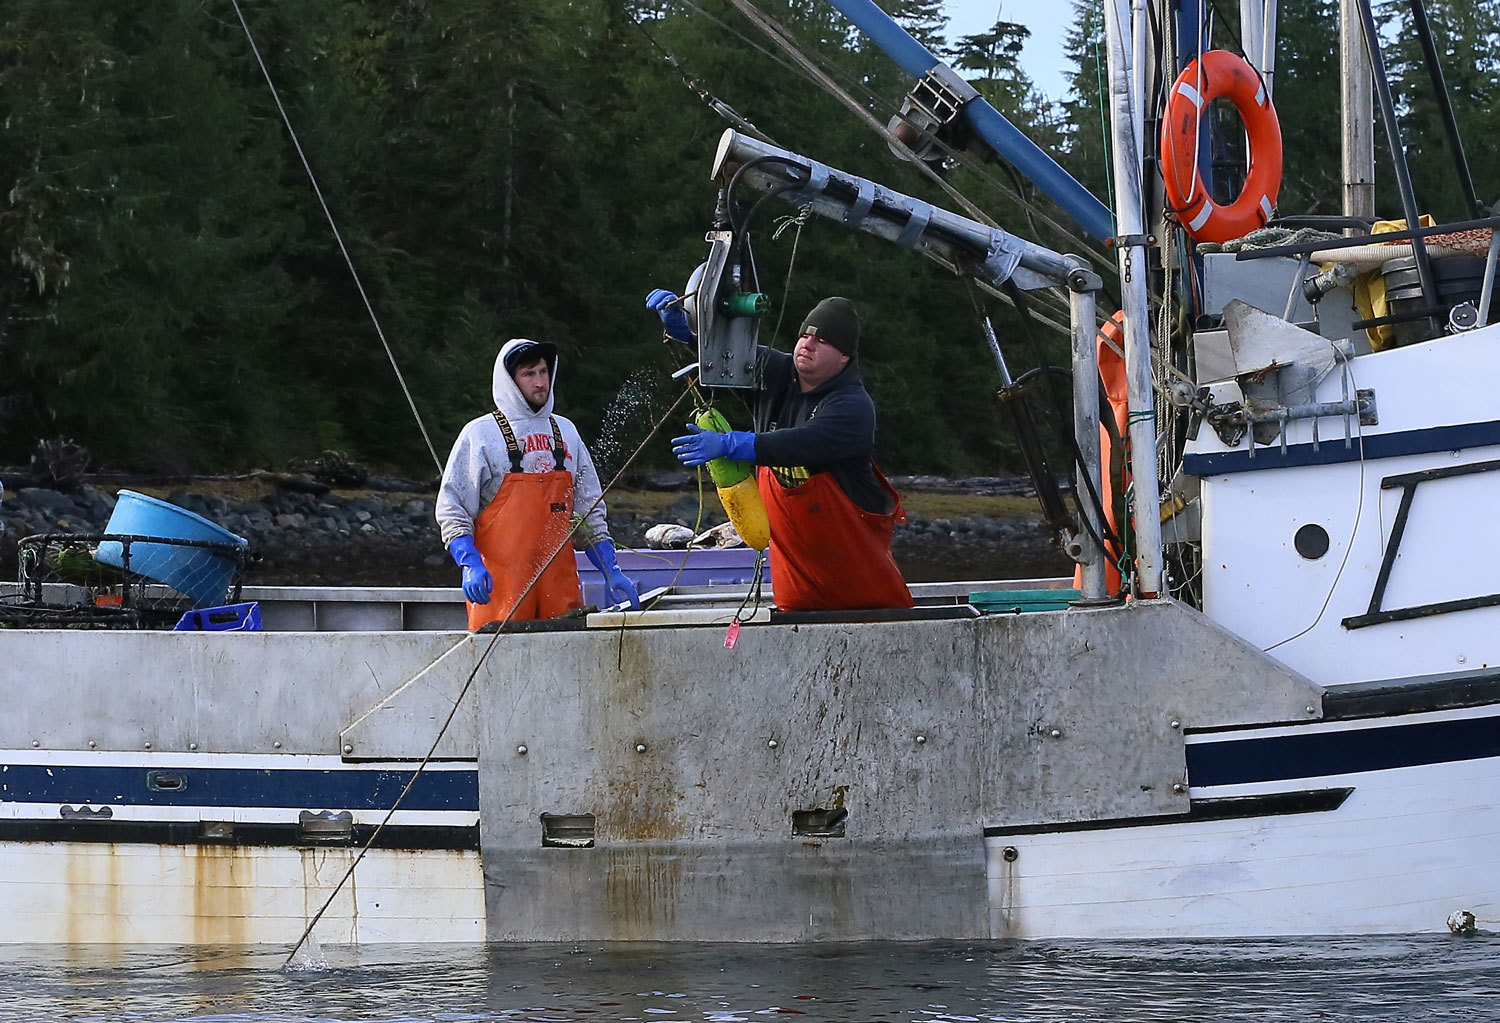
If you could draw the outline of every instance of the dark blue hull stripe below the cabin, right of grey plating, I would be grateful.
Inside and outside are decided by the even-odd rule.
[[[1188,746],[1188,784],[1246,784],[1500,756],[1500,717]]]

